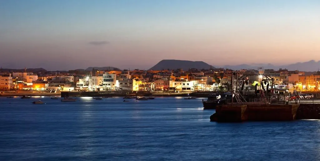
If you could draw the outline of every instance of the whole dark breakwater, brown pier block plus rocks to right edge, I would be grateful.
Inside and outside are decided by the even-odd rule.
[[[320,119],[320,104],[219,105],[210,121],[289,121]]]

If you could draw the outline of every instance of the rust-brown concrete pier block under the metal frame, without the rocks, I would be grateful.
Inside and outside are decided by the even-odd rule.
[[[210,121],[289,121],[296,119],[299,104],[228,104],[219,105]]]

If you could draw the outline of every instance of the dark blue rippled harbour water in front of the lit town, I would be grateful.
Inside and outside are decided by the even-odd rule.
[[[0,160],[318,160],[320,122],[216,123],[202,99],[0,98]],[[31,104],[42,100],[43,105]]]

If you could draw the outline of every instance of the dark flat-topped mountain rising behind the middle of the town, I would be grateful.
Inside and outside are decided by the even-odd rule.
[[[155,66],[150,68],[149,70],[162,70],[162,69],[179,69],[188,70],[189,68],[196,69],[210,69],[211,65],[203,62],[203,61],[188,61],[188,60],[161,60]]]

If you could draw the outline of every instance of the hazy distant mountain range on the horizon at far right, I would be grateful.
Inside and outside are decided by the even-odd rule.
[[[240,69],[258,69],[259,67],[263,67],[264,69],[275,69],[278,70],[280,68],[282,69],[288,69],[288,70],[299,70],[299,71],[318,71],[320,68],[320,61],[316,60],[310,60],[307,62],[298,62],[293,63],[289,65],[273,65],[273,64],[240,64],[240,65],[227,65],[223,66],[225,69],[233,69],[233,70],[240,70]]]

